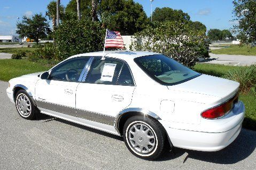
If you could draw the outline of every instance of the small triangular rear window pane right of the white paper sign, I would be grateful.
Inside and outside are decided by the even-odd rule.
[[[134,86],[133,77],[131,76],[131,73],[127,64],[124,64],[122,67],[117,85]]]

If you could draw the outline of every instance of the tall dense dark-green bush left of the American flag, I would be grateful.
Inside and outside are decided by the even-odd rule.
[[[99,22],[69,20],[61,23],[55,31],[58,59],[63,60],[80,53],[102,51],[105,31]]]

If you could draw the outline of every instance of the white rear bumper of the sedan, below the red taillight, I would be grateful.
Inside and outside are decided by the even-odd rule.
[[[220,130],[220,132],[207,132],[205,131],[207,127],[204,128],[204,125],[200,125],[200,131],[182,129],[182,127],[180,129],[166,127],[166,125],[164,127],[174,147],[198,151],[218,151],[232,143],[240,133],[245,114],[244,104],[239,101],[237,108],[232,110],[230,114],[227,118],[221,118],[226,119],[226,123],[216,123],[216,128],[221,129],[219,127],[221,125],[223,126],[222,129],[225,129],[225,131]],[[214,121],[218,121],[218,119]],[[214,126],[211,125],[211,128]]]

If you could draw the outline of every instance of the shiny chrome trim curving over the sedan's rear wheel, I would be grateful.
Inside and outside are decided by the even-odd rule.
[[[119,120],[120,118],[122,117],[122,115],[126,114],[127,112],[139,112],[139,113],[142,113],[144,115],[149,115],[157,120],[161,120],[161,118],[159,116],[157,116],[156,114],[154,114],[152,111],[149,111],[149,110],[145,110],[145,109],[142,109],[142,108],[127,108],[127,109],[124,109],[122,111],[119,112],[119,114],[115,117],[115,129],[117,130],[117,132],[119,134],[120,131],[119,131],[119,127],[118,127],[118,124],[119,124]]]

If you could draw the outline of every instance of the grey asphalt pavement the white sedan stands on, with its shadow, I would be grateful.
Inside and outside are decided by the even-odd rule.
[[[218,152],[176,149],[158,161],[131,155],[121,137],[46,117],[22,119],[0,81],[0,169],[256,169],[256,132]]]

